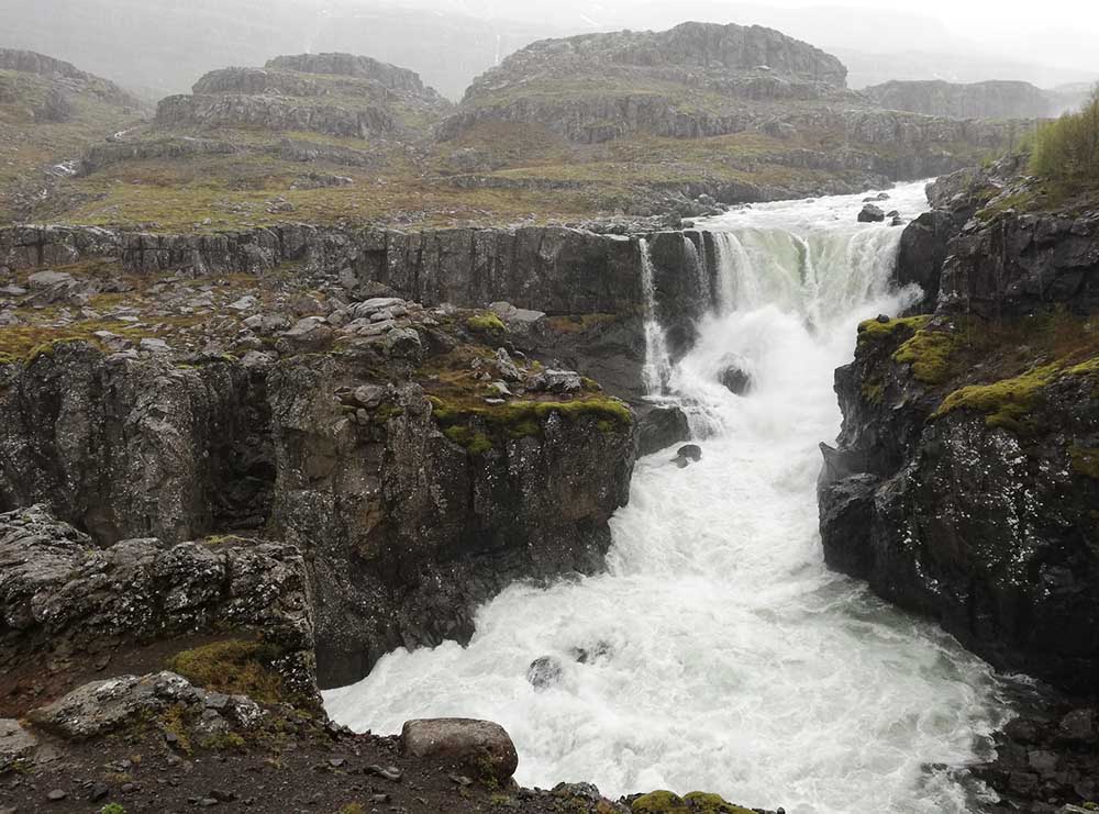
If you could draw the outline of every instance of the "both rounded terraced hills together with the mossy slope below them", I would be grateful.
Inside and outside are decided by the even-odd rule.
[[[371,57],[280,56],[162,100],[33,214],[153,231],[697,216],[952,171],[1020,130],[885,110],[845,77],[780,32],[704,23],[535,43],[457,107]]]

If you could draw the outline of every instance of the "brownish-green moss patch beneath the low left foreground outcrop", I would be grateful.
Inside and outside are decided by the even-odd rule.
[[[168,669],[199,687],[274,704],[288,700],[282,679],[269,667],[278,656],[270,645],[229,639],[184,650],[169,659]]]

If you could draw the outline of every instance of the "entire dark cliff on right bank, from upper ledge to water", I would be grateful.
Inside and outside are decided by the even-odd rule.
[[[910,227],[926,267],[904,279],[937,286],[935,311],[864,323],[836,372],[844,424],[824,450],[821,533],[830,565],[996,666],[1088,693],[1099,220],[1012,170],[941,181],[937,233]]]

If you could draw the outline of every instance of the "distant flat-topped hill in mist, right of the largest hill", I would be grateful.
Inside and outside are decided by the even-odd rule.
[[[1059,98],[1030,82],[890,81],[862,92],[889,110],[947,119],[1045,119],[1062,109]]]

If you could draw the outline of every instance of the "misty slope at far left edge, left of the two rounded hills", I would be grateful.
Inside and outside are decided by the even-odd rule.
[[[142,114],[114,82],[30,51],[0,48],[0,221],[27,214],[95,142]]]

